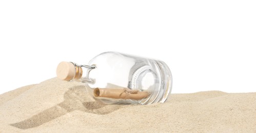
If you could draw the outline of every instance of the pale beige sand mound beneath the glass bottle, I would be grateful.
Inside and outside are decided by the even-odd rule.
[[[256,132],[256,93],[171,94],[151,105],[105,105],[57,78],[0,95],[0,132]]]

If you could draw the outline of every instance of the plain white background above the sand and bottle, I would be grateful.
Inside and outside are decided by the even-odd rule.
[[[0,1],[0,94],[60,61],[117,51],[165,61],[172,93],[256,92],[255,1]]]

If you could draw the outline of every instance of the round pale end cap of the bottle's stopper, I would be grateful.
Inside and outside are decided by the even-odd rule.
[[[71,62],[61,62],[57,66],[57,77],[61,80],[70,81],[75,77],[75,66]]]

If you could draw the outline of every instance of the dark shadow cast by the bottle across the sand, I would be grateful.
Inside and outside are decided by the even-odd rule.
[[[114,112],[115,110],[125,106],[126,105],[107,105],[102,102],[95,101],[87,94],[85,86],[74,86],[69,88],[69,90],[64,94],[63,102],[50,107],[27,120],[10,125],[20,129],[28,129],[40,126],[74,110],[81,110],[86,113],[104,115]]]

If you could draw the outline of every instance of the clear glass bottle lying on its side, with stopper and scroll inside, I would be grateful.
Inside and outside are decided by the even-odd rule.
[[[97,55],[88,65],[61,62],[57,77],[84,82],[89,94],[106,104],[163,103],[172,87],[163,61],[118,52]]]

